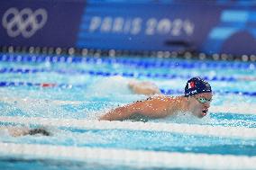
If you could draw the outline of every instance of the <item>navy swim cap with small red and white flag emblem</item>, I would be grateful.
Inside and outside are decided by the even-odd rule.
[[[187,81],[185,96],[212,92],[211,85],[200,77],[193,77]]]

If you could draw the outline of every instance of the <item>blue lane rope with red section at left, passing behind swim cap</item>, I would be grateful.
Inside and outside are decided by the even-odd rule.
[[[68,84],[53,84],[53,83],[30,83],[30,82],[0,82],[0,87],[10,87],[10,86],[34,86],[41,88],[85,88],[87,85],[68,85]],[[183,94],[182,90],[172,90],[172,89],[160,89],[162,94]],[[239,91],[215,91],[215,94],[239,94],[239,95],[247,95],[247,96],[256,96],[256,92],[239,92]]]

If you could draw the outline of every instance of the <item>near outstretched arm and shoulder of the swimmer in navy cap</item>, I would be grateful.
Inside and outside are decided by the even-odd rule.
[[[151,118],[163,118],[169,115],[169,111],[172,107],[171,101],[172,99],[167,96],[157,96],[145,101],[137,101],[107,112],[105,115],[101,116],[99,120],[123,121],[135,113]]]

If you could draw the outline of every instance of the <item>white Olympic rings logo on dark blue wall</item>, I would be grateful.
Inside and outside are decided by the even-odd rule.
[[[30,38],[47,22],[45,9],[38,9],[34,13],[30,8],[24,8],[21,12],[17,8],[8,9],[2,19],[4,28],[10,37],[22,34],[24,38]]]

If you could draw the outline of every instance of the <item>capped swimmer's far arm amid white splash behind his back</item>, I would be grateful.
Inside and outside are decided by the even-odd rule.
[[[151,82],[138,82],[138,81],[130,81],[129,88],[133,91],[134,94],[144,94],[144,95],[152,95],[152,94],[160,94],[160,89],[157,85]]]

